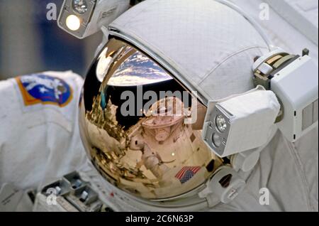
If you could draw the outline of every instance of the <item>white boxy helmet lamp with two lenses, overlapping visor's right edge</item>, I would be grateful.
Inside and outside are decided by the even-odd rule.
[[[217,104],[209,104],[203,140],[221,158],[256,149],[267,143],[279,109],[280,104],[274,92],[266,90],[254,90]],[[223,132],[216,127],[218,115],[227,121],[227,128]],[[213,134],[220,136],[220,146],[214,144]]]

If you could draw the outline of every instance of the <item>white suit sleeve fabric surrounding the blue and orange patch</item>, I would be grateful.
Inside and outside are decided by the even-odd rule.
[[[65,107],[26,106],[16,79],[1,82],[0,184],[38,188],[86,161],[77,125],[82,78],[72,72],[40,74],[65,80],[71,101]]]

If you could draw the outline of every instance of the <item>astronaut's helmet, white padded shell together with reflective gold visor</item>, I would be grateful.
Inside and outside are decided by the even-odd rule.
[[[212,0],[144,1],[108,33],[80,103],[91,162],[130,197],[162,203],[198,195],[233,167],[203,142],[208,100],[252,90],[254,58],[269,46],[244,16]]]

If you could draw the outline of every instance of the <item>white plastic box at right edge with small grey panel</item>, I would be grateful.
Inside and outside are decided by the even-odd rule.
[[[278,127],[286,139],[297,141],[318,125],[318,66],[308,55],[277,72],[271,90],[284,107]]]

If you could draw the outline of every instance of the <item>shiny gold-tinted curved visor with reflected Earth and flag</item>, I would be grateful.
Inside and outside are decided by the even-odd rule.
[[[112,38],[96,58],[80,109],[82,140],[94,166],[138,198],[188,193],[222,164],[201,139],[206,107],[123,41]]]

